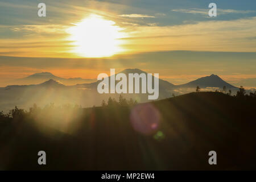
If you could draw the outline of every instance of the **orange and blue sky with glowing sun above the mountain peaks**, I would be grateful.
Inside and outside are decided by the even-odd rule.
[[[173,84],[216,74],[256,88],[256,1],[55,0],[39,17],[40,2],[0,1],[0,86],[36,72],[139,68]]]

